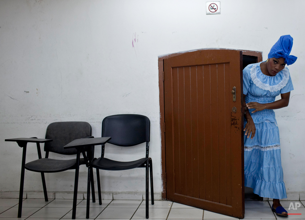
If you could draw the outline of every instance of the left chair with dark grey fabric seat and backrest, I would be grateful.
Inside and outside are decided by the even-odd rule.
[[[75,169],[74,197],[73,197],[73,210],[72,210],[72,219],[75,219],[79,165],[86,163],[88,164],[88,159],[93,158],[94,146],[83,149],[75,149],[75,148],[63,149],[63,146],[65,146],[66,144],[70,143],[75,139],[93,138],[91,136],[91,126],[89,123],[81,122],[81,121],[54,122],[48,125],[45,138],[53,139],[52,142],[45,143],[45,148],[44,148],[45,158],[41,158],[40,145],[39,143],[37,143],[37,151],[38,151],[39,159],[25,164],[24,168],[30,171],[41,173],[42,186],[45,194],[45,201],[48,201],[48,195],[45,185],[44,173],[54,173],[54,172],[61,172],[65,170]],[[85,155],[85,151],[87,151],[87,156]],[[76,159],[71,159],[71,160],[55,160],[48,158],[49,152],[59,153],[63,155],[77,154],[77,156]],[[83,153],[84,158],[86,158],[87,161],[84,158],[80,158],[81,152]],[[93,173],[91,173],[91,178],[93,178]],[[93,181],[91,187],[92,187],[92,200],[93,202],[95,202]]]

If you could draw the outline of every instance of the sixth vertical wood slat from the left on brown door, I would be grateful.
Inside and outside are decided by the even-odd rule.
[[[211,140],[211,91],[210,91],[210,65],[203,66],[204,87],[204,149],[205,149],[205,181],[206,200],[212,201],[212,140]]]

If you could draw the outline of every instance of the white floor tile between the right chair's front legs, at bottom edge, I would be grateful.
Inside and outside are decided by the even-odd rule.
[[[97,218],[131,218],[137,208],[105,208]]]

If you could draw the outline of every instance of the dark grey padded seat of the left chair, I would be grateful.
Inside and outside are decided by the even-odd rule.
[[[80,164],[84,164],[84,158],[80,158]],[[54,173],[76,168],[76,159],[54,160],[41,158],[25,164],[25,168],[34,172]]]

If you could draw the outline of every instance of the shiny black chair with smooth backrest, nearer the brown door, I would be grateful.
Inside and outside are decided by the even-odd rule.
[[[87,213],[86,218],[89,218],[90,205],[90,182],[91,169],[96,168],[97,173],[101,170],[128,170],[133,168],[146,168],[146,218],[148,218],[148,169],[150,170],[150,191],[152,205],[153,198],[153,181],[152,181],[152,159],[148,157],[149,153],[149,136],[150,136],[150,121],[148,117],[137,114],[121,114],[105,117],[102,122],[102,137],[111,137],[108,143],[117,146],[135,146],[146,142],[146,157],[135,161],[116,161],[104,157],[105,145],[102,145],[102,155],[100,158],[93,158],[89,163],[88,168],[88,188],[87,188]],[[98,183],[99,197],[100,184]]]

